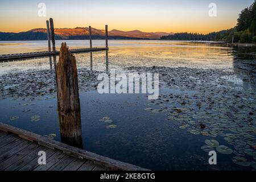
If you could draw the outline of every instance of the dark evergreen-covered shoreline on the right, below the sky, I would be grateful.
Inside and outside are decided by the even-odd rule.
[[[234,39],[233,39],[234,38]],[[234,43],[256,43],[256,1],[242,10],[237,26],[228,30],[211,32],[209,34],[197,34],[181,32],[173,35],[162,36],[162,40],[203,40]]]

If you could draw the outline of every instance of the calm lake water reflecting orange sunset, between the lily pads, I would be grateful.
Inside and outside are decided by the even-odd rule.
[[[59,41],[56,42],[57,49],[59,49],[60,43]],[[104,43],[103,40],[95,40],[93,46],[104,46]],[[82,48],[88,47],[89,43],[86,40],[68,40],[67,45],[69,48]],[[173,102],[166,101],[167,104],[166,102],[151,103],[144,94],[101,95],[93,89],[81,90],[82,138],[85,150],[150,169],[253,169],[253,164],[249,166],[246,163],[246,165],[241,166],[232,162],[237,152],[229,155],[217,153],[217,166],[210,166],[208,164],[208,153],[201,150],[201,147],[205,145],[205,139],[214,139],[221,145],[228,146],[233,151],[238,151],[239,154],[243,152],[244,155],[241,156],[246,158],[248,163],[255,162],[256,154],[254,152],[256,150],[251,147],[254,145],[247,144],[248,142],[256,142],[255,48],[227,48],[208,44],[157,40],[109,40],[109,47],[108,57],[106,57],[105,51],[93,52],[92,60],[90,59],[90,53],[76,54],[77,67],[101,72],[113,68],[119,72],[129,72],[130,67],[136,67],[139,71],[146,71],[147,68],[144,67],[152,66],[164,67],[167,70],[170,68],[174,71],[174,75],[179,76],[179,78],[175,77],[174,79],[178,81],[175,85],[180,87],[174,88],[163,84],[160,88],[162,99],[163,97],[168,98],[168,100],[173,98]],[[0,42],[0,54],[46,50],[46,41]],[[60,140],[56,93],[42,94],[35,98],[29,94],[27,96],[14,94],[15,91],[13,90],[10,91],[10,94],[9,91],[6,91],[10,90],[10,86],[13,88],[16,86],[14,82],[6,81],[9,78],[15,81],[25,73],[48,72],[53,68],[53,59],[51,63],[49,57],[0,63],[1,90],[3,93],[7,93],[2,94],[0,100],[1,122],[40,135],[56,134],[54,139]],[[184,71],[184,69],[186,70]],[[184,71],[184,74],[190,72],[190,75],[183,77],[183,74],[180,74],[182,71]],[[195,71],[206,74],[200,77],[199,80],[197,79],[197,84],[201,83],[199,88],[190,85],[190,79],[195,77]],[[17,74],[15,75],[15,73]],[[213,77],[213,75],[216,76],[216,80],[213,78],[212,82],[207,81],[208,85],[203,86],[208,76]],[[160,80],[161,76],[163,82],[169,81],[164,77],[164,73],[160,74]],[[31,83],[38,82],[43,79],[42,77],[30,77],[30,79],[34,79],[31,80]],[[185,85],[181,85],[181,82]],[[220,94],[220,90],[223,90],[218,88],[220,82],[227,83],[227,85],[224,84],[226,95],[225,93]],[[212,84],[212,86],[209,86],[209,84]],[[186,89],[182,89],[182,86]],[[210,101],[203,98],[209,98],[207,94],[215,101],[215,103],[211,102],[211,107],[213,107],[213,110],[215,109],[214,112],[210,113],[212,115],[207,113],[209,109],[206,105]],[[237,97],[233,98],[235,94],[237,94]],[[188,108],[185,107],[177,101],[181,97],[185,97],[183,101],[192,104],[189,104]],[[226,101],[227,97],[230,97],[231,100]],[[237,98],[241,99],[238,100]],[[193,102],[198,100],[203,103],[203,109],[198,109],[197,106],[193,105]],[[243,107],[238,107],[240,105],[243,105]],[[184,117],[182,118],[183,123],[181,123],[183,127],[187,127],[187,122],[189,122],[191,129],[200,130],[193,124],[195,118],[197,118],[200,122],[207,123],[209,129],[206,128],[205,131],[200,131],[201,134],[197,134],[191,132],[191,129],[182,129],[179,120],[176,118],[175,120],[173,116],[171,116],[171,119],[176,122],[170,122],[170,112],[174,106],[181,107],[183,110],[180,114],[181,117]],[[216,111],[216,108],[221,106],[222,110]],[[166,107],[166,111],[156,114],[145,110],[147,107],[152,109]],[[238,110],[236,110],[237,107]],[[250,109],[250,115],[246,113],[248,109]],[[233,115],[237,113],[235,123],[232,126],[230,125],[233,122],[231,117],[228,119],[222,117],[222,115],[228,115],[226,114],[228,111],[231,111]],[[177,115],[177,113],[172,112],[171,114],[174,114],[175,117]],[[39,115],[40,121],[31,121],[31,117],[34,115]],[[194,117],[194,120],[188,119],[191,116]],[[221,119],[209,122],[211,117],[218,116],[223,118],[223,122],[218,123],[218,120]],[[117,127],[107,129],[108,124],[100,121],[103,117],[112,119],[112,124],[117,125]],[[245,122],[247,122],[245,118],[250,123],[245,125]],[[228,126],[225,126],[225,122]],[[213,126],[214,124],[217,127]],[[244,130],[238,130],[237,126],[241,126]],[[213,128],[218,130],[216,132],[214,130],[214,134],[213,132],[210,133]],[[255,129],[250,130],[251,136],[249,137],[243,134],[246,133],[248,128]],[[205,132],[208,134],[205,134]],[[228,134],[236,135],[236,140],[229,140],[230,137],[225,139]],[[236,147],[240,147],[240,150]]]

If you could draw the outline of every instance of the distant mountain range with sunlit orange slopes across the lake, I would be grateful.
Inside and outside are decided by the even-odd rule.
[[[160,39],[162,36],[170,35],[166,32],[142,32],[134,31],[109,31],[109,39]],[[92,28],[93,39],[105,39],[105,30]],[[89,39],[89,28],[56,28],[56,40],[80,40]],[[47,40],[46,28],[35,28],[27,32],[0,32],[0,40]]]

